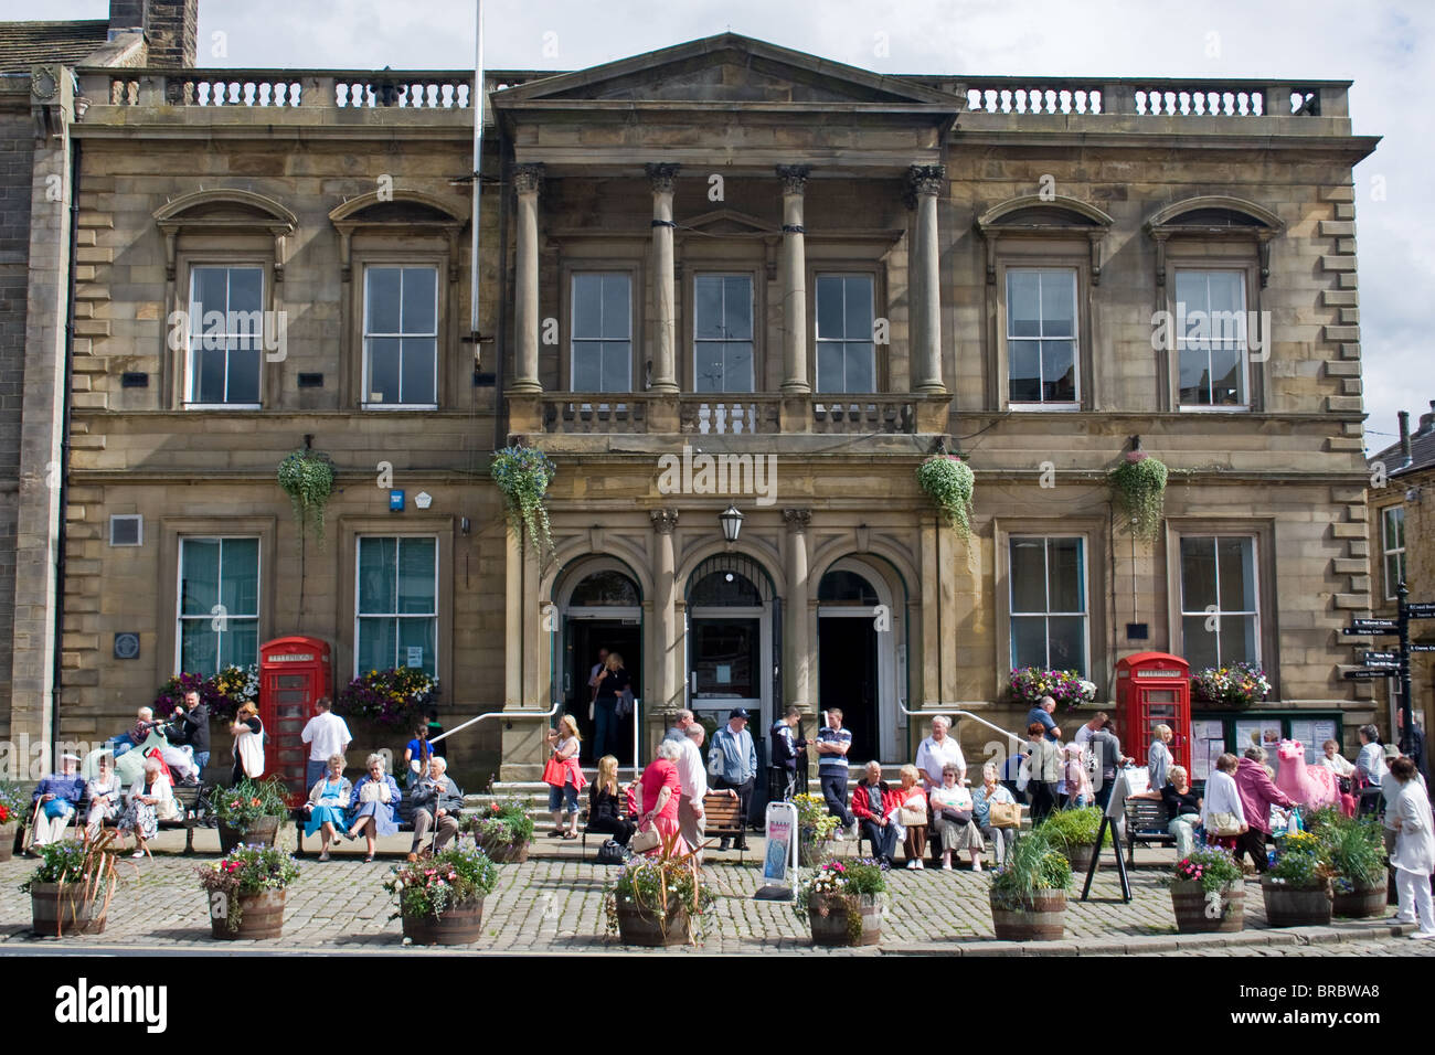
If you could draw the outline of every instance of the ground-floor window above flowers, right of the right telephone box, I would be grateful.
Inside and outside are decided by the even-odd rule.
[[[1253,537],[1181,538],[1181,640],[1192,670],[1260,663]]]

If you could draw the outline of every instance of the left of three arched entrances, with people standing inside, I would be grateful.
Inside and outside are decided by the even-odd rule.
[[[643,696],[643,596],[637,581],[620,561],[603,557],[584,561],[567,574],[557,593],[563,619],[561,659],[554,665],[560,677],[564,712],[578,719],[583,735],[580,758],[597,765],[593,741],[593,669],[600,652],[616,652],[633,679],[633,695]],[[618,765],[633,765],[634,716],[618,722],[604,754]]]

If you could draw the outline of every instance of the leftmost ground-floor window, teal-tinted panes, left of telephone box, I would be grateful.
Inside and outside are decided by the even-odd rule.
[[[179,540],[179,670],[258,662],[260,540]]]

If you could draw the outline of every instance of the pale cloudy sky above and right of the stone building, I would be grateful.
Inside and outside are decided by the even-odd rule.
[[[0,0],[4,19],[108,10]],[[474,0],[199,0],[199,65],[465,67],[472,26]],[[883,73],[1353,80],[1355,132],[1383,136],[1356,168],[1370,452],[1396,411],[1435,399],[1429,0],[486,0],[484,29],[491,69],[581,69],[730,29]]]

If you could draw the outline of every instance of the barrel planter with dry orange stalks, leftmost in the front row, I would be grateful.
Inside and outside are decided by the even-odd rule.
[[[36,934],[99,934],[119,886],[115,831],[83,841],[60,840],[37,847],[40,867],[20,884],[30,894],[30,926]]]

